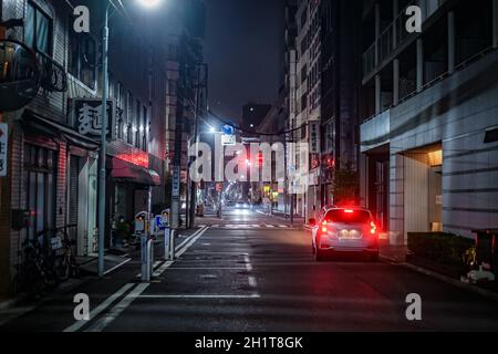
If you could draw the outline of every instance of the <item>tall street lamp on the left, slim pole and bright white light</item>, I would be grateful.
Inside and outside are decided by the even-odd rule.
[[[152,8],[162,0],[138,0],[141,4]],[[104,248],[105,248],[105,158],[107,149],[107,88],[108,88],[108,10],[113,4],[104,2],[104,29],[102,30],[102,131],[98,174],[98,277],[104,277]]]

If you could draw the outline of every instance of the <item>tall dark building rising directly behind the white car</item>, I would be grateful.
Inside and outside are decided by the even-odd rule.
[[[321,206],[353,202],[338,171],[357,171],[360,142],[361,1],[322,1]],[[338,187],[335,187],[338,186]],[[349,189],[349,188],[347,188]]]

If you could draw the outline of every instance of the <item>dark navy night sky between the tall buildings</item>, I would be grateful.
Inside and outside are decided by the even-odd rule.
[[[211,110],[239,119],[248,101],[273,103],[283,43],[283,0],[206,0],[206,8]]]

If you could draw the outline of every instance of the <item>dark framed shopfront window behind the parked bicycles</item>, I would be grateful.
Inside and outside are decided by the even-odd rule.
[[[24,145],[25,208],[30,210],[25,236],[29,239],[55,225],[55,155],[43,147]]]

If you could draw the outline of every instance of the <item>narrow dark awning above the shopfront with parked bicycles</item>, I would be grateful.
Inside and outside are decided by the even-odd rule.
[[[22,124],[25,128],[42,132],[49,136],[61,137],[68,143],[74,146],[85,148],[87,150],[96,150],[100,146],[98,142],[95,142],[71,127],[61,123],[48,119],[30,110],[25,110],[22,115]]]

